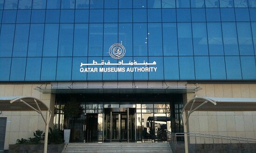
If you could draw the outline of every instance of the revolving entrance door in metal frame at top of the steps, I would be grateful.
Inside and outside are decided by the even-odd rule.
[[[135,142],[135,108],[105,108],[104,116],[105,142]]]

